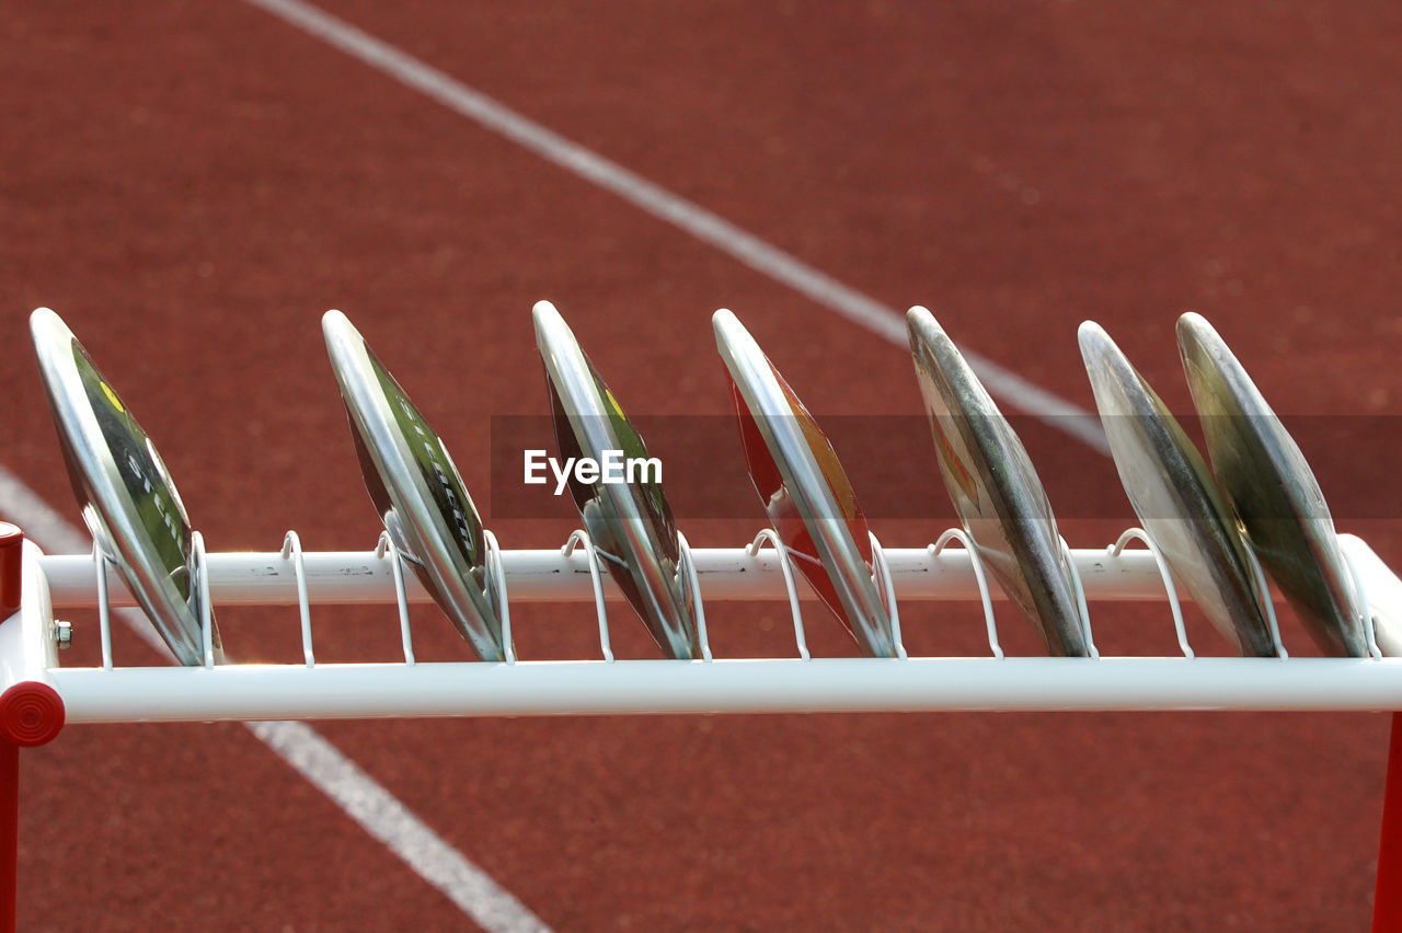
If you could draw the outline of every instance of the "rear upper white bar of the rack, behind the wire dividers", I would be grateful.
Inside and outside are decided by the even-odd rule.
[[[778,555],[764,549],[750,556],[744,548],[694,548],[701,595],[705,600],[785,600]],[[1074,551],[1085,594],[1098,600],[1164,600],[1164,583],[1147,551],[1130,549],[1110,558],[1105,549]],[[304,555],[307,595],[313,602],[393,602],[394,579],[388,560],[370,551],[308,551]],[[97,579],[88,555],[46,555],[41,559],[49,579],[55,608],[97,605]],[[510,600],[523,602],[575,602],[593,600],[585,552],[564,556],[558,549],[502,551]],[[958,548],[938,558],[924,548],[887,548],[886,563],[896,595],[911,600],[977,600],[979,587],[969,555]],[[210,553],[210,598],[215,605],[296,604],[297,586],[292,562],[279,552]],[[607,576],[607,574],[606,574]],[[795,574],[803,597],[812,595],[802,574]],[[407,574],[409,601],[429,595],[414,574]],[[621,598],[611,580],[610,598]],[[135,605],[126,586],[108,570],[112,605]],[[1005,598],[993,587],[997,600]]]

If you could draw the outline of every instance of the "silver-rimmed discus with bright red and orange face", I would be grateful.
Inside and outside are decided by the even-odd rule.
[[[770,521],[862,653],[893,657],[896,640],[872,579],[866,518],[837,452],[736,317],[716,311],[712,325],[750,478]]]

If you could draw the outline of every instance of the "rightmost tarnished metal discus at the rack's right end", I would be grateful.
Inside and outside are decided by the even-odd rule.
[[[1246,544],[1325,654],[1367,656],[1363,607],[1300,447],[1200,314],[1178,319],[1178,349],[1213,472]]]

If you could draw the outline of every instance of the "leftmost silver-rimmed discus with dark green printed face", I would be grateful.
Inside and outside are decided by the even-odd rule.
[[[181,664],[203,663],[191,525],[170,472],[146,431],[62,318],[29,317],[73,493],[94,541]],[[215,660],[224,651],[210,608]]]

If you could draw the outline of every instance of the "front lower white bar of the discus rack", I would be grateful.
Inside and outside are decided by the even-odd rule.
[[[925,710],[1402,710],[1402,658],[823,658],[55,670],[73,723]]]

